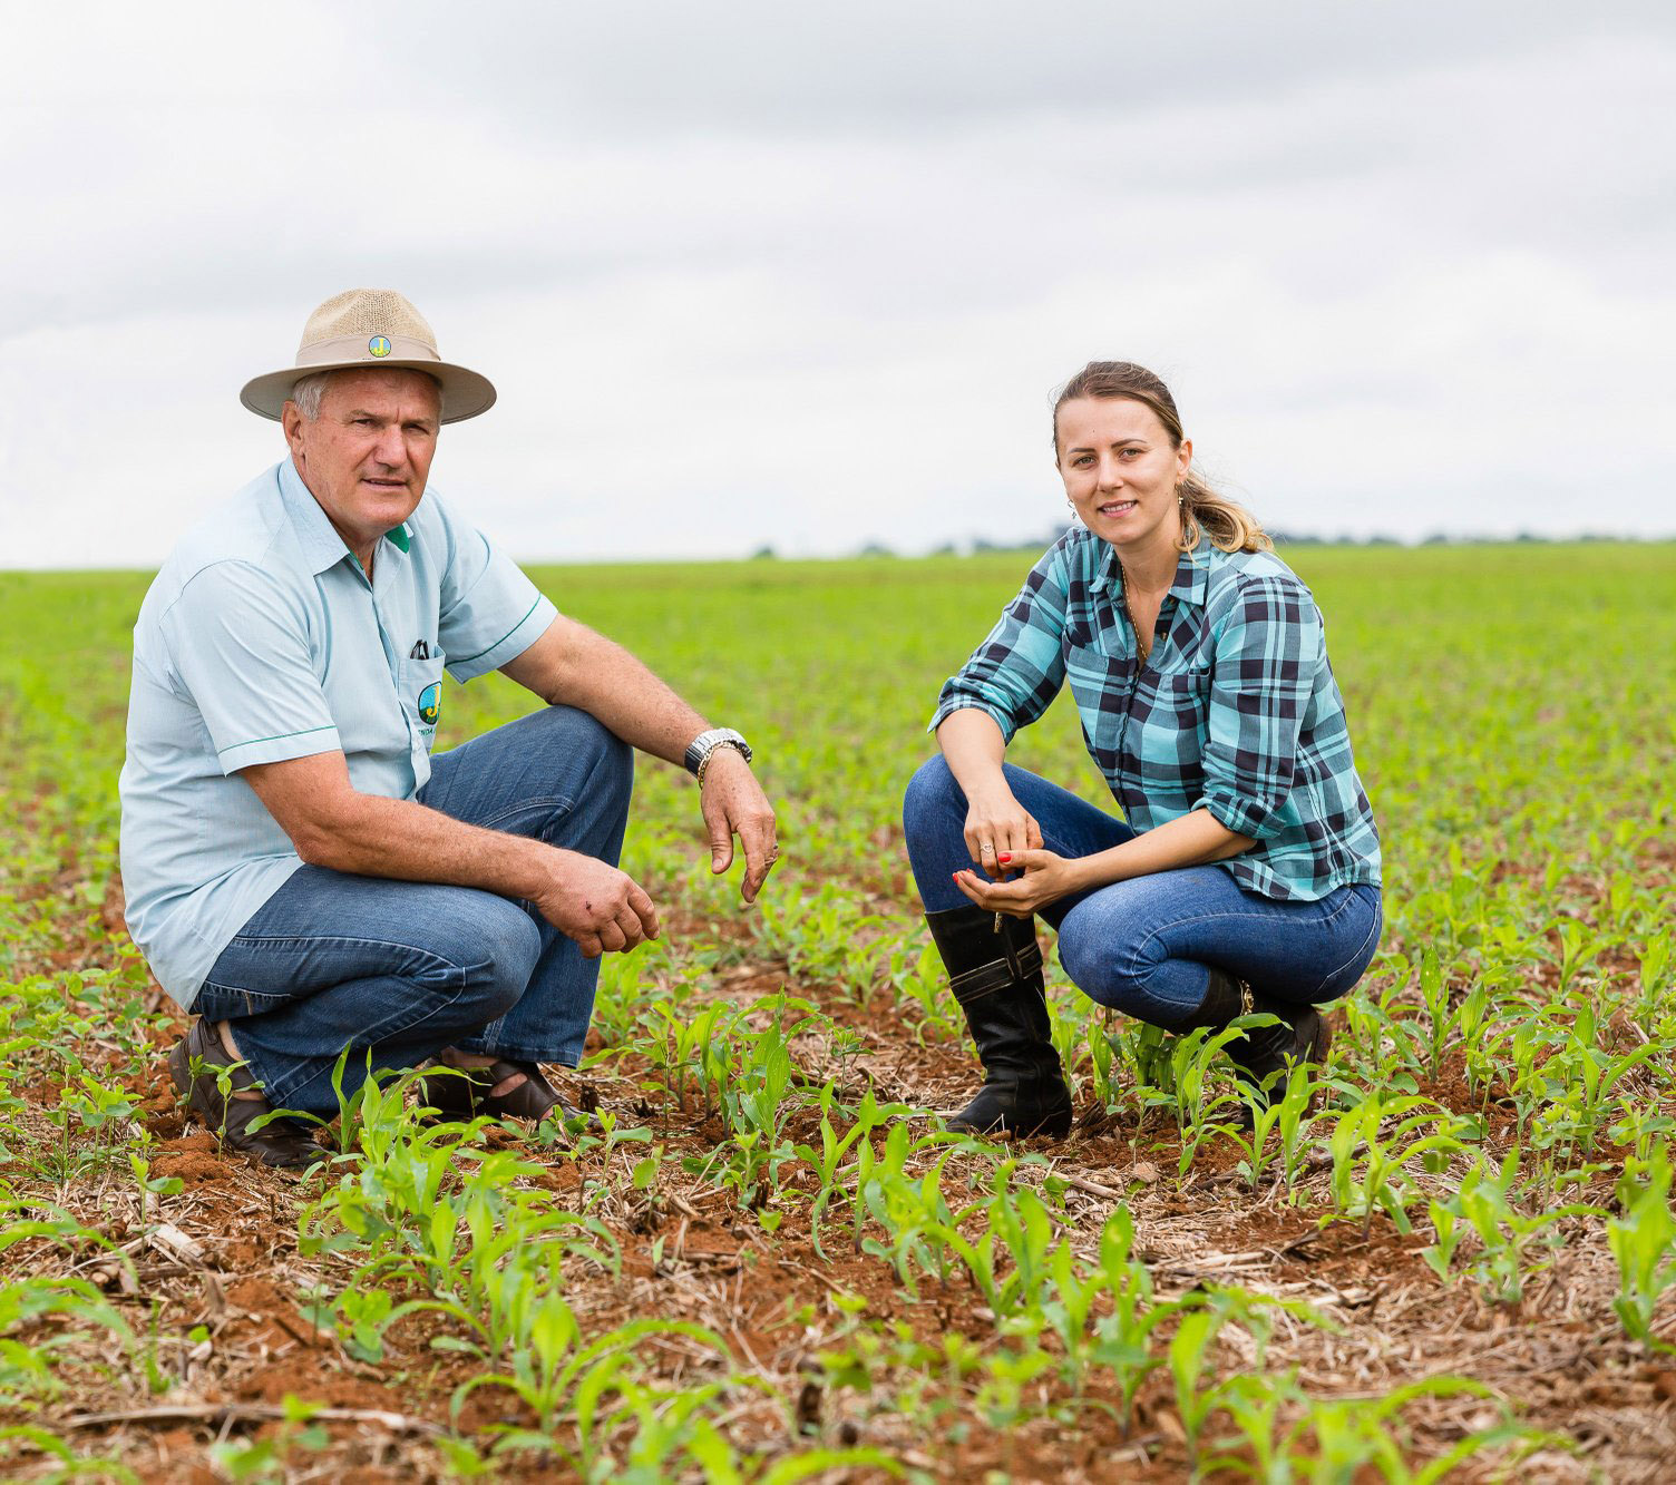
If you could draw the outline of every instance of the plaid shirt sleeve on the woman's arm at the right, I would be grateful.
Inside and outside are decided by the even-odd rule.
[[[1205,793],[1195,806],[1235,835],[1262,840],[1291,821],[1297,739],[1321,655],[1321,613],[1301,583],[1240,583],[1215,634]]]

